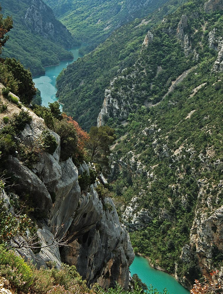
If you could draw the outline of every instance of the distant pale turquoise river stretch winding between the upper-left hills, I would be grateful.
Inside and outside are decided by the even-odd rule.
[[[69,50],[74,55],[73,60],[63,60],[59,65],[45,67],[46,72],[44,76],[35,76],[33,78],[35,87],[38,88],[41,92],[43,106],[47,107],[48,102],[53,103],[54,101],[58,100],[58,98],[56,98],[56,77],[59,75],[62,69],[68,66],[68,64],[71,64],[77,60],[78,57],[82,56],[79,53],[79,48],[80,47],[75,47]]]

